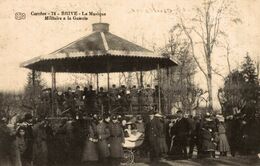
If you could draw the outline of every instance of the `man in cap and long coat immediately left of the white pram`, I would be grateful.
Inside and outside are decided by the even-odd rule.
[[[117,115],[112,116],[112,122],[109,124],[110,131],[110,157],[112,165],[120,165],[120,160],[124,155],[122,143],[124,140],[124,132],[118,121]]]

